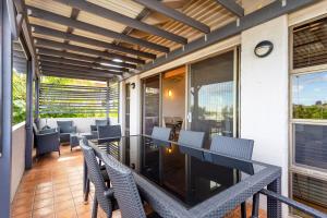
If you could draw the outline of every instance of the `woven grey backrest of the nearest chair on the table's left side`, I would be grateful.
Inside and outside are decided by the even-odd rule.
[[[102,154],[102,161],[106,165],[122,217],[145,218],[145,211],[132,171],[110,155]]]

